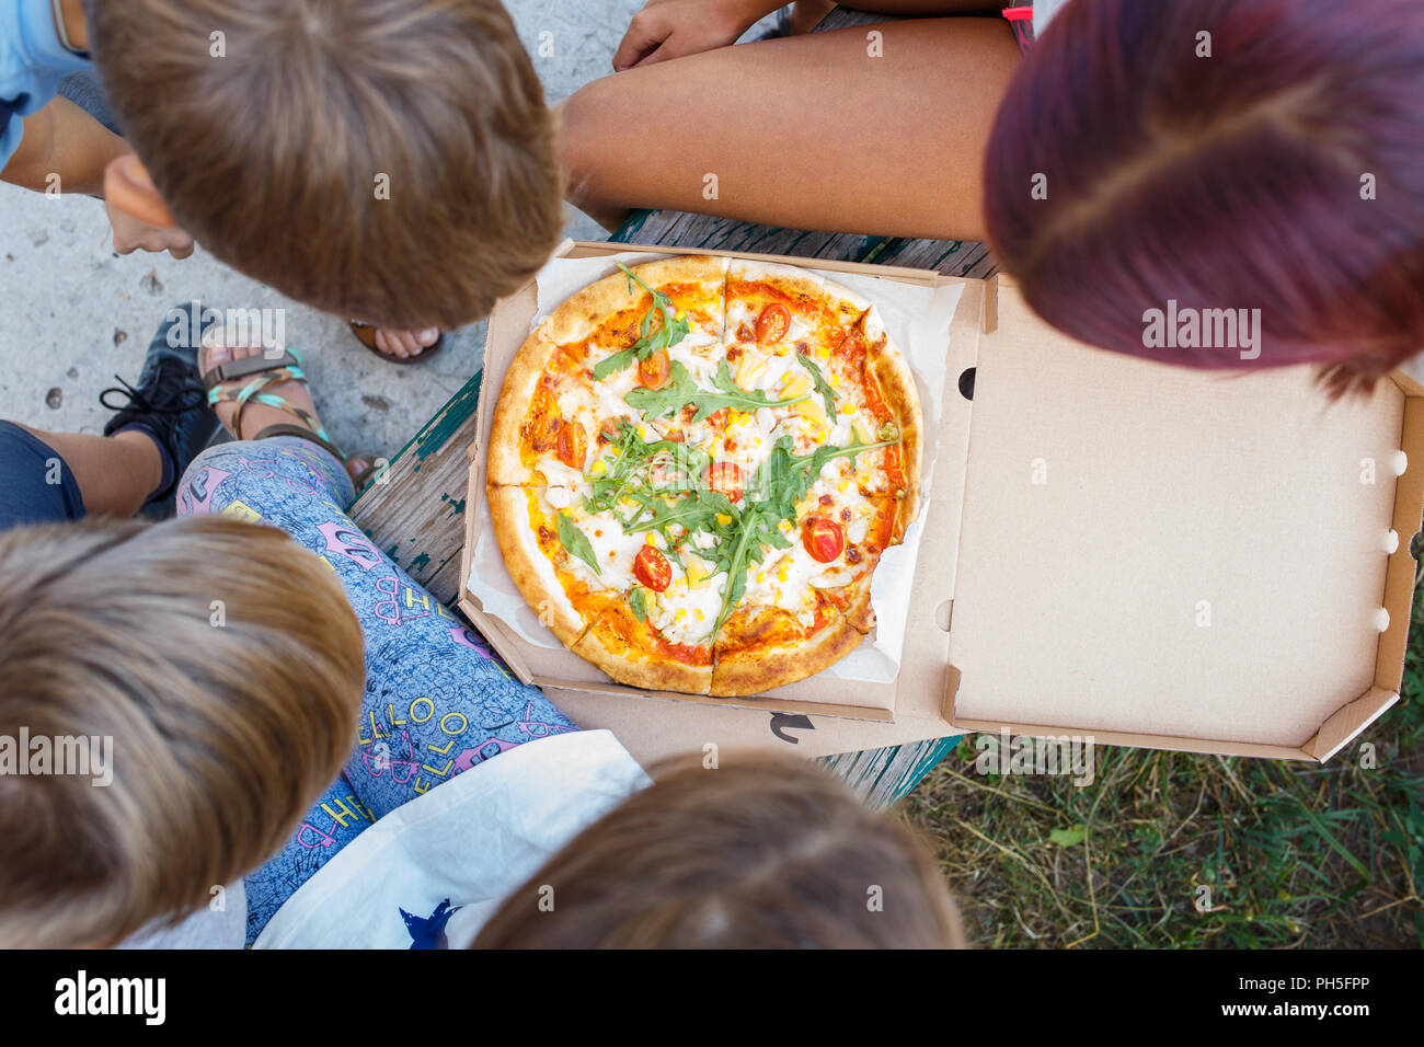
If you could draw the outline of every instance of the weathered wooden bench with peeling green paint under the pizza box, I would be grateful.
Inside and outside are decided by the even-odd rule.
[[[817,31],[883,20],[837,9]],[[953,276],[984,278],[994,264],[983,244],[857,236],[778,229],[705,215],[641,211],[611,241],[722,251],[827,258],[876,265],[936,269]],[[372,486],[352,509],[356,523],[410,575],[454,607],[460,593],[460,550],[468,497],[466,449],[474,440],[474,406],[481,373],[392,459],[386,483]],[[827,756],[823,764],[846,779],[870,805],[889,806],[907,795],[958,742],[958,735],[910,745]]]

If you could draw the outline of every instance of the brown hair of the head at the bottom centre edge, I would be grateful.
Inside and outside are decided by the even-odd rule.
[[[924,845],[819,768],[723,754],[721,769],[652,775],[474,947],[967,947]]]

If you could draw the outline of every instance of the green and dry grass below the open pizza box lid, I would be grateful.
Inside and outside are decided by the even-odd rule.
[[[981,775],[965,736],[900,811],[974,940],[1424,947],[1424,587],[1414,595],[1403,701],[1324,766],[1098,746],[1096,781],[1078,788]]]

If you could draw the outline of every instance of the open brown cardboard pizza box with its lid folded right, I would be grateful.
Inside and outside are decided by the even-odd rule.
[[[964,285],[890,684],[820,674],[736,699],[614,684],[486,613],[468,585],[480,514],[466,514],[460,608],[515,675],[638,759],[1008,731],[1324,761],[1398,699],[1424,513],[1424,386],[1410,377],[1331,403],[1312,368],[1223,375],[1102,352],[1048,328],[1002,276],[625,244],[558,256],[629,251]],[[490,316],[471,506],[535,312],[531,282]]]

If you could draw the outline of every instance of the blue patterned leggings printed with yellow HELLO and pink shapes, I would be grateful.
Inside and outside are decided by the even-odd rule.
[[[356,748],[286,846],[245,879],[248,944],[288,897],[377,818],[523,742],[578,728],[410,580],[346,516],[350,477],[293,436],[204,452],[178,516],[221,513],[279,527],[346,590],[366,641]]]

